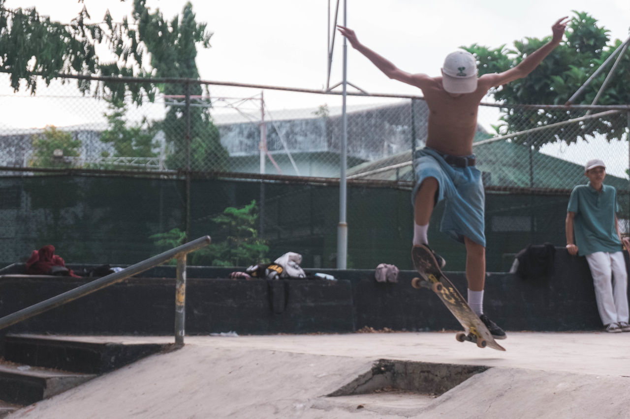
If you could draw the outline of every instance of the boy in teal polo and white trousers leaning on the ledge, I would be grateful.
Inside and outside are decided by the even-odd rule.
[[[588,160],[585,176],[588,184],[573,189],[566,210],[566,250],[587,257],[606,332],[630,332],[626,261],[621,249],[621,243],[630,249],[630,241],[619,233],[617,191],[604,184],[602,160]]]

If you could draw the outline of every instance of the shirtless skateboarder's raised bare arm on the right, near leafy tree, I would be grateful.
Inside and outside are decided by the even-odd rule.
[[[482,75],[479,77],[479,84],[483,84],[490,89],[490,87],[501,86],[502,84],[522,79],[526,75],[530,74],[530,72],[534,71],[534,69],[541,64],[542,60],[547,57],[547,55],[549,55],[549,53],[562,41],[564,30],[566,29],[566,25],[568,23],[568,16],[558,19],[556,23],[551,26],[551,31],[553,32],[551,41],[527,55],[527,57],[518,63],[517,66],[512,67],[509,70],[501,73]]]

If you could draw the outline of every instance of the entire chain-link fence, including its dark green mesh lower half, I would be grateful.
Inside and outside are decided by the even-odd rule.
[[[37,96],[3,91],[1,262],[50,242],[75,262],[132,263],[157,251],[149,237],[173,228],[220,242],[227,233],[212,220],[255,200],[268,257],[290,250],[307,267],[335,267],[338,93],[169,81],[159,84],[169,94],[137,104],[96,88],[100,97],[81,96],[75,82],[54,81]],[[427,137],[427,105],[382,95],[347,103],[348,267],[410,268],[411,155]],[[629,110],[479,107],[473,150],[486,186],[490,271],[529,243],[564,244],[568,194],[586,181],[588,159],[607,164],[627,230]],[[432,246],[463,269],[463,248],[437,233],[441,211]]]

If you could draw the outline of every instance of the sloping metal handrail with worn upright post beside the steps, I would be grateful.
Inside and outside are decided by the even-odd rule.
[[[147,271],[148,269],[163,264],[167,260],[175,257],[177,259],[175,280],[175,344],[183,345],[186,313],[186,255],[209,244],[210,236],[197,238],[192,242],[185,243],[171,250],[166,250],[166,252],[159,255],[126,267],[122,271],[114,272],[113,274],[95,279],[94,281],[71,289],[70,291],[66,291],[65,293],[45,299],[44,301],[40,301],[39,303],[23,308],[22,310],[18,310],[15,313],[11,313],[10,315],[0,318],[0,330],[26,320],[27,318],[31,318],[45,311],[51,310],[52,308],[69,303],[77,298],[91,294],[99,289],[117,284],[130,276]]]

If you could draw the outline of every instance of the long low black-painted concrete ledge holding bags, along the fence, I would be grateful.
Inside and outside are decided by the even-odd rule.
[[[627,255],[626,255],[627,258]],[[592,277],[584,257],[556,251],[555,274],[520,279],[486,277],[484,311],[506,330],[599,330]],[[413,289],[415,271],[398,283],[376,282],[371,269],[321,269],[338,281],[230,280],[241,268],[188,267],[186,333],[239,334],[455,330],[460,326],[431,291]],[[21,276],[18,264],[0,270],[0,316],[63,293],[91,278]],[[169,335],[175,323],[175,267],[161,266],[10,329],[16,333]],[[466,295],[463,272],[446,272]]]

